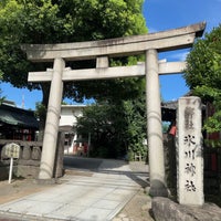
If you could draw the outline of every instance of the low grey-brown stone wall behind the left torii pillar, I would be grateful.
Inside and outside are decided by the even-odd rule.
[[[0,180],[9,178],[10,159],[6,156],[7,144],[18,144],[20,155],[13,160],[13,176],[23,178],[38,178],[40,171],[40,161],[42,155],[42,143],[0,139]],[[59,133],[56,155],[54,160],[53,177],[62,177],[63,171],[63,152],[64,152],[64,134]]]

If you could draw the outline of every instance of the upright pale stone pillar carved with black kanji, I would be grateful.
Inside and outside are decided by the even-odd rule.
[[[181,204],[202,206],[203,156],[201,137],[201,101],[181,97],[178,101],[178,201]]]

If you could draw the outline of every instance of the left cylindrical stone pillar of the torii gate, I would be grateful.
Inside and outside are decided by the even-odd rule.
[[[62,74],[65,67],[63,59],[54,59],[53,75],[51,81],[46,124],[43,137],[43,149],[40,165],[39,179],[51,179],[53,177],[59,120],[63,95]]]

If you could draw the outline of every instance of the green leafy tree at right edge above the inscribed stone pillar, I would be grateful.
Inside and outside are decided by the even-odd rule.
[[[193,44],[187,64],[187,84],[194,95],[215,109],[204,129],[208,133],[221,131],[221,24]]]

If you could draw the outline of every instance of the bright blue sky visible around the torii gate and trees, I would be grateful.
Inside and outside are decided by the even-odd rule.
[[[202,21],[207,22],[207,33],[221,23],[221,0],[145,0],[143,11],[149,33]],[[180,50],[159,53],[158,56],[159,60],[167,59],[168,62],[185,61],[188,52],[189,50]],[[25,109],[35,109],[35,103],[42,99],[41,91],[18,90],[8,83],[1,83],[0,88],[1,96]],[[164,101],[178,99],[189,92],[182,74],[160,76],[160,90]],[[71,101],[66,102],[71,104]]]

